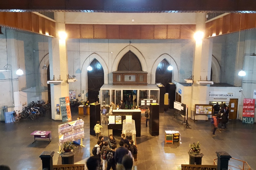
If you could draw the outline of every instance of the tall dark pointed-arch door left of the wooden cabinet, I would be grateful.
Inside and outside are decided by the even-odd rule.
[[[104,71],[97,59],[94,59],[90,66],[92,71],[87,71],[88,76],[88,100],[90,103],[99,101],[98,94],[101,86],[104,84]]]

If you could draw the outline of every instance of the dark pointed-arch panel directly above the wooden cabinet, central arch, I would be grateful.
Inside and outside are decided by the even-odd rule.
[[[142,71],[138,57],[128,51],[119,61],[117,71]]]

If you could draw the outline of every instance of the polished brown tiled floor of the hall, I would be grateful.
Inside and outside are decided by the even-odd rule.
[[[72,109],[72,119],[76,120],[78,110]],[[82,118],[85,122],[83,139],[84,148],[80,147],[75,153],[75,164],[85,163],[91,155],[91,150],[96,144],[95,136],[89,134],[89,117]],[[173,110],[160,113],[160,135],[151,136],[149,127],[145,127],[145,117],[141,120],[141,137],[137,138],[139,150],[136,165],[139,170],[175,170],[180,164],[189,163],[189,144],[199,141],[204,156],[202,164],[213,164],[217,158],[216,151],[226,151],[233,158],[247,161],[251,169],[256,169],[256,127],[255,125],[242,124],[239,120],[230,120],[226,131],[216,131],[217,136],[212,136],[212,126],[209,121],[193,122],[189,119],[191,129],[185,128],[181,121],[173,117]],[[58,151],[58,125],[62,121],[54,121],[51,114],[47,113],[36,120],[22,119],[18,123],[0,122],[1,154],[0,164],[10,166],[11,170],[40,170],[42,162],[39,158],[43,151],[54,151],[53,164],[61,164]],[[52,131],[52,142],[33,142],[30,134],[34,130]],[[181,143],[165,144],[164,131],[179,130]],[[102,130],[105,140],[107,139],[107,126]],[[120,139],[119,139],[120,140]],[[243,167],[239,161],[230,161],[230,165]],[[230,167],[230,169],[235,169]],[[246,168],[245,168],[246,169]]]

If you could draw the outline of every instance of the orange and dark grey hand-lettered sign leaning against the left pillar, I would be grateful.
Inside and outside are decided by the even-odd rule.
[[[69,105],[69,97],[61,97],[60,101],[60,112],[62,116],[62,122],[66,122],[72,120],[71,118],[71,110]]]

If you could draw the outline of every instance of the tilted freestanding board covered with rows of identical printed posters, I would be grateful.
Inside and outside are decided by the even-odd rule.
[[[59,146],[84,138],[84,121],[82,119],[64,123],[58,126]]]

